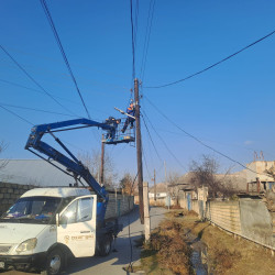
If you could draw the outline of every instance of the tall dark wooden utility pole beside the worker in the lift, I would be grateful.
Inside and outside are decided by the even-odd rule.
[[[141,120],[140,120],[140,95],[139,80],[134,79],[134,102],[135,102],[135,134],[136,134],[136,160],[138,160],[138,185],[140,201],[140,219],[144,224],[144,205],[143,205],[143,170],[142,170],[142,144],[141,144]]]

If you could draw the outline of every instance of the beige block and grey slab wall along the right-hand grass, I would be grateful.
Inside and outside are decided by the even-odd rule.
[[[258,198],[208,201],[206,218],[231,233],[275,250],[275,217]]]

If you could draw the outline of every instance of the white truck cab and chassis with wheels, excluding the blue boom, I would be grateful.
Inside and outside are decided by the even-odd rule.
[[[97,195],[86,188],[29,190],[0,218],[0,271],[59,274],[69,256],[109,254],[121,230],[97,227]]]

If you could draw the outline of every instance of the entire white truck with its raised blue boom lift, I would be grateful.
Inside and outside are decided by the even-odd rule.
[[[110,121],[100,123],[75,119],[35,125],[25,148],[45,160],[87,188],[36,188],[26,191],[0,218],[0,271],[46,271],[58,274],[69,256],[92,256],[110,253],[113,238],[122,231],[118,220],[105,219],[109,196],[105,186],[97,183],[89,169],[54,135],[55,132],[97,127],[107,131],[107,144],[128,143]],[[61,153],[42,141],[50,134],[67,154]],[[46,157],[45,157],[46,156]],[[55,162],[53,162],[55,161]],[[57,166],[58,163],[61,166]]]

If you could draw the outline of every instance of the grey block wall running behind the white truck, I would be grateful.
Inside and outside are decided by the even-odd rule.
[[[6,212],[25,191],[35,188],[33,185],[0,183],[0,215]],[[133,197],[114,194],[109,195],[106,219],[122,216],[133,209]]]

